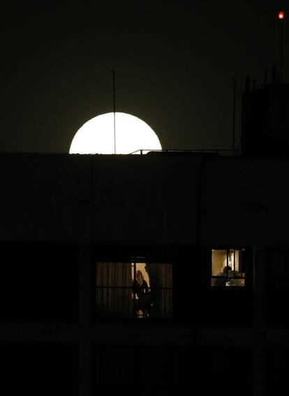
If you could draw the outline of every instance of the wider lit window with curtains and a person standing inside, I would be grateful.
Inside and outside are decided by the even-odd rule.
[[[172,264],[97,262],[96,317],[172,318]]]

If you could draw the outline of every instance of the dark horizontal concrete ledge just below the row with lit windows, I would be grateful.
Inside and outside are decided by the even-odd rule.
[[[84,326],[88,332],[80,332],[78,323],[1,323],[0,342],[52,342],[77,343],[85,334],[91,334],[95,345],[167,345],[179,347],[236,347],[251,348],[258,333],[251,327],[198,327],[168,323],[94,323]],[[85,330],[85,329],[83,329]],[[80,335],[82,334],[82,337]],[[262,331],[262,344],[266,348],[288,348],[289,329]]]

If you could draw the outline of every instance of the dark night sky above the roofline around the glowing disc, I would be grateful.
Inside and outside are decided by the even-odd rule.
[[[80,126],[116,109],[166,149],[236,146],[246,75],[279,62],[288,1],[2,1],[0,151],[67,153]],[[283,22],[283,82],[289,28]]]

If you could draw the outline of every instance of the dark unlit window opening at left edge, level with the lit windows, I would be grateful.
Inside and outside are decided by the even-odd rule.
[[[73,243],[1,243],[0,321],[77,321],[79,248]]]

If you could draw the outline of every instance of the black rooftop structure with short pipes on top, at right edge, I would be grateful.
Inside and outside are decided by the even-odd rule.
[[[242,95],[242,153],[252,157],[288,157],[289,84],[277,82],[272,66],[271,84],[255,88],[246,79]]]

